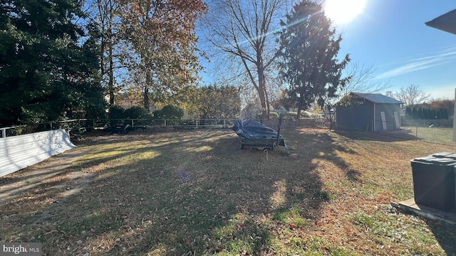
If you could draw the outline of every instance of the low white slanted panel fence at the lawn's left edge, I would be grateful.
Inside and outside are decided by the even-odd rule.
[[[74,147],[64,129],[2,137],[0,138],[0,177]]]

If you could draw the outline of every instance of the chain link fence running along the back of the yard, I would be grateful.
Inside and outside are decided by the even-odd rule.
[[[105,120],[73,119],[0,128],[0,138],[30,134],[33,132],[50,131],[53,129],[66,129],[71,136],[77,136],[78,134],[83,134],[84,132],[88,132],[93,129],[118,132],[115,130],[116,125],[120,126],[121,129],[125,129],[125,127],[127,127],[130,130],[150,129],[152,131],[169,127],[174,129],[230,129],[233,127],[234,121],[235,119],[112,119],[111,124],[113,124],[113,126],[107,127]],[[259,119],[257,121],[262,122],[267,127],[271,127],[272,129],[277,129],[279,126],[278,119]],[[328,122],[326,119],[315,118],[299,120],[283,119],[281,122],[281,128],[294,129],[296,127],[327,127],[328,124],[326,124],[326,122]],[[390,136],[402,137],[403,139],[422,139],[429,142],[456,146],[456,142],[452,141],[452,127],[440,127],[439,124],[432,122],[415,122],[415,124],[403,123],[399,131],[389,131],[387,133],[390,134]]]

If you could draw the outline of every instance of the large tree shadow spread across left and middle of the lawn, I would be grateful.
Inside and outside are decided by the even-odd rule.
[[[21,233],[19,240],[43,242],[44,255],[274,252],[280,232],[305,229],[331,197],[322,192],[314,160],[347,169],[348,180],[358,176],[336,154],[356,152],[328,134],[296,133],[290,139],[301,145],[299,159],[280,151],[241,150],[231,131],[100,138],[96,146],[115,146],[95,146],[90,159],[80,159],[83,169],[105,164],[90,185],[73,194],[38,191],[34,203],[46,198],[61,203],[34,208],[33,215],[14,204],[11,228],[16,220],[25,225],[2,230],[1,239],[15,240]],[[141,145],[118,144],[128,141]],[[129,158],[151,151],[150,158]]]

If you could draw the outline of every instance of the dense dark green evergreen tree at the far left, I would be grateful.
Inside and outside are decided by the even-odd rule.
[[[103,107],[97,45],[81,17],[73,0],[1,1],[0,126]]]

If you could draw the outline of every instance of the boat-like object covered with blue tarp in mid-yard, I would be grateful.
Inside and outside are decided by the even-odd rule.
[[[241,148],[244,146],[261,149],[273,149],[277,142],[277,132],[254,120],[236,120],[234,132],[241,138]],[[279,146],[286,146],[284,138],[280,135]]]

